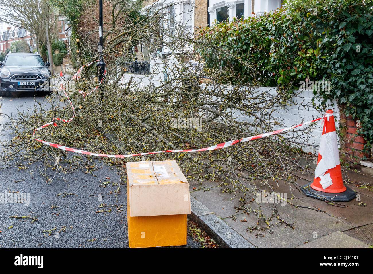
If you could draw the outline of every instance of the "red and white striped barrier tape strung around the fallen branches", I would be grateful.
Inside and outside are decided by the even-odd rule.
[[[98,60],[94,61],[94,62],[98,62]],[[87,66],[90,66],[94,62],[89,63]],[[78,69],[78,71],[74,74],[74,76],[72,77],[72,79],[79,79],[80,78],[79,73],[82,71],[82,69],[84,67],[85,67],[85,65],[82,66],[80,69]],[[104,76],[105,75],[106,75],[106,68],[105,68],[105,72],[104,72]],[[101,80],[101,82],[102,82],[102,80]],[[101,84],[101,82],[100,82],[100,84]],[[97,88],[98,88],[98,86],[96,86],[94,88],[94,90],[96,90]],[[79,91],[79,92],[81,94],[83,94],[83,97],[85,95],[88,95],[88,94],[86,94],[84,92],[81,92],[81,91]],[[69,123],[69,122],[71,122],[74,119],[74,117],[75,117],[74,106],[73,106],[72,102],[70,101],[70,98],[66,94],[66,92],[63,91],[63,93],[68,98],[68,101],[69,101],[69,103],[70,103],[70,105],[72,107],[73,116],[69,120],[65,120],[65,119],[61,119],[61,118],[54,118],[52,122],[46,123],[43,126],[40,126],[40,127],[36,128],[36,129],[34,129],[34,132],[32,133],[32,137],[34,137],[35,132],[37,130],[43,129],[43,128],[45,128],[47,126],[50,126],[50,125],[57,126],[57,124],[54,122],[55,120],[60,120],[60,121]],[[248,142],[248,141],[252,141],[252,140],[256,140],[256,139],[265,138],[265,137],[268,137],[268,136],[271,136],[271,135],[280,134],[280,133],[286,132],[286,131],[288,131],[290,129],[294,129],[295,127],[304,126],[304,125],[307,125],[307,124],[319,121],[321,119],[328,119],[329,120],[329,116],[326,116],[326,114],[325,114],[323,117],[320,117],[320,118],[317,118],[317,119],[314,119],[312,121],[308,121],[308,122],[305,122],[305,123],[301,123],[299,125],[295,125],[295,126],[291,126],[291,127],[286,127],[286,128],[283,128],[283,129],[279,129],[279,130],[275,130],[275,131],[272,131],[272,132],[267,132],[267,133],[263,133],[263,134],[259,134],[259,135],[255,135],[255,136],[250,136],[250,137],[236,139],[236,140],[232,140],[232,141],[228,141],[228,142],[223,142],[223,143],[220,143],[220,144],[217,144],[217,145],[213,145],[211,147],[206,147],[206,148],[199,148],[199,149],[179,149],[179,150],[162,150],[162,151],[144,152],[144,153],[136,153],[136,154],[119,154],[119,155],[115,155],[115,154],[98,154],[98,153],[89,152],[89,151],[85,151],[85,150],[81,150],[81,149],[65,147],[63,145],[54,144],[54,143],[43,141],[43,140],[40,140],[40,139],[37,139],[37,138],[35,138],[35,140],[38,141],[38,142],[41,142],[41,143],[43,143],[45,145],[48,145],[50,147],[59,148],[59,149],[62,149],[62,150],[71,151],[71,152],[75,152],[75,153],[79,153],[79,154],[92,155],[92,156],[98,156],[98,157],[127,158],[127,157],[134,157],[134,156],[159,154],[159,153],[164,153],[164,152],[201,152],[201,151],[210,151],[210,150],[215,150],[215,149],[220,149],[220,148],[226,148],[226,147],[230,147],[230,146],[235,145],[235,144],[240,143],[240,142],[241,143],[242,142]]]

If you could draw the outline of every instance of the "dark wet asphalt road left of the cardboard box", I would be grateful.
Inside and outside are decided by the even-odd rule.
[[[35,99],[48,104],[44,97]],[[17,107],[25,110],[34,105],[33,94],[1,100],[0,113],[8,115],[16,114]],[[0,117],[0,124],[4,119]],[[11,137],[11,133],[1,131],[1,140],[11,140]],[[0,193],[29,193],[29,205],[0,203],[0,248],[128,248],[126,186],[120,187],[116,198],[114,190],[120,181],[120,171],[104,166],[99,159],[96,165],[100,168],[92,173],[66,174],[68,183],[62,179],[47,183],[37,171],[29,174],[36,166],[28,170],[17,167],[0,170]],[[102,185],[103,182],[110,183]],[[73,194],[65,198],[63,194],[56,196],[65,192]],[[101,204],[107,206],[100,207]],[[110,208],[111,212],[97,212]],[[32,223],[29,218],[10,216],[31,216],[37,221]],[[50,236],[48,230],[51,230]],[[58,231],[60,233],[56,233]],[[199,247],[200,244],[188,236],[188,245],[182,248]]]

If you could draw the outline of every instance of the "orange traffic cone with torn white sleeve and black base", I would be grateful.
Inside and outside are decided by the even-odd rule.
[[[313,183],[303,186],[302,191],[308,197],[333,202],[348,202],[356,197],[351,188],[343,185],[333,110],[327,110],[323,117],[319,157]]]

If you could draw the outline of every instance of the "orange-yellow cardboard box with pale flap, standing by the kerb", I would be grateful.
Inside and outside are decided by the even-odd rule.
[[[128,162],[130,248],[186,245],[189,184],[175,160]]]

